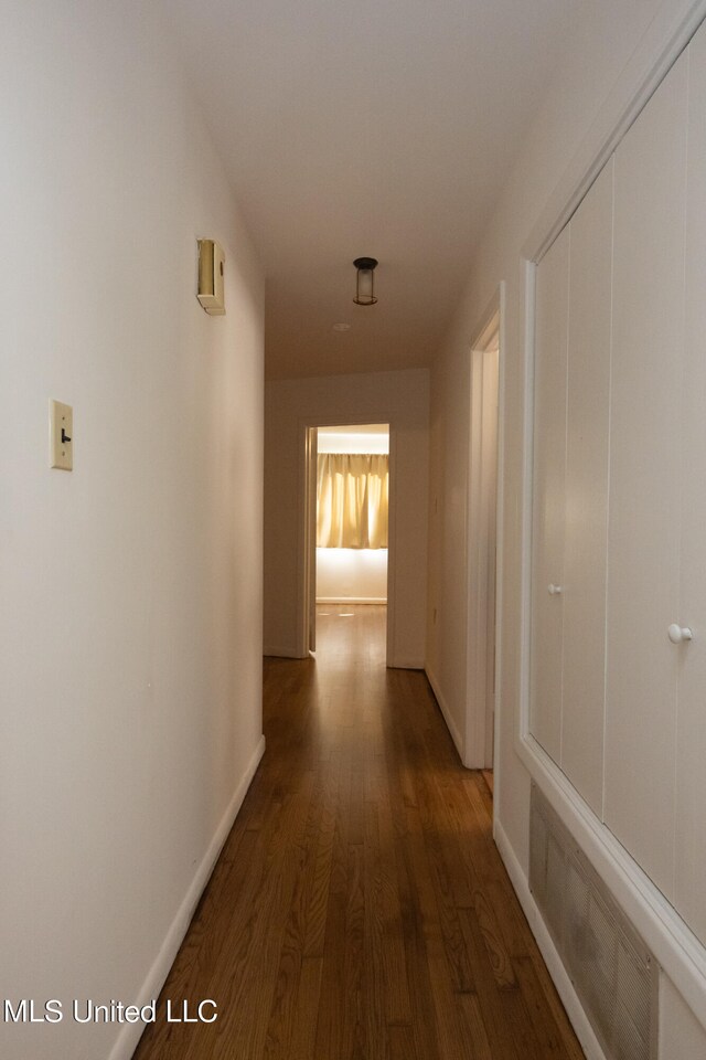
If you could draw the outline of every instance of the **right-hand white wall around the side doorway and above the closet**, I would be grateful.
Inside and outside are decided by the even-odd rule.
[[[523,551],[525,485],[524,416],[527,385],[525,352],[525,285],[523,250],[546,220],[546,206],[566,174],[577,171],[586,144],[598,144],[607,115],[618,115],[619,102],[630,103],[640,83],[639,62],[666,45],[682,15],[692,6],[649,0],[601,0],[579,10],[574,36],[557,56],[545,106],[527,130],[525,149],[500,197],[474,255],[473,272],[459,304],[438,361],[431,372],[429,541],[429,637],[427,665],[445,699],[452,723],[462,729],[466,703],[466,494],[469,449],[469,350],[484,322],[486,307],[505,280],[502,332],[504,389],[504,488],[502,589],[501,704],[496,778],[496,834],[505,857],[515,859],[526,879],[530,776],[516,752],[522,683]],[[554,197],[554,198],[553,198]],[[630,888],[625,894],[629,898]],[[527,901],[532,901],[528,891]],[[695,995],[704,984],[696,984]],[[689,1043],[703,1032],[683,1029],[683,1003],[670,999],[662,1010],[664,1057],[695,1056]]]

